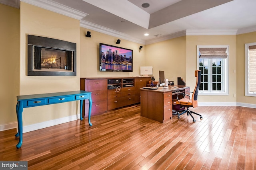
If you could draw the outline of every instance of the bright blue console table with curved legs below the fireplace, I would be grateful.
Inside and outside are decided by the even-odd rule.
[[[91,119],[91,109],[92,109],[92,92],[86,92],[84,90],[72,91],[72,92],[59,92],[59,93],[48,93],[48,94],[32,94],[32,95],[24,95],[17,96],[17,105],[16,105],[16,113],[18,119],[18,133],[16,133],[16,137],[20,137],[19,143],[16,145],[17,148],[20,148],[22,145],[22,112],[23,108],[26,107],[35,107],[35,106],[44,106],[48,104],[57,104],[63,102],[72,102],[76,100],[80,100],[80,120],[82,118],[82,107],[83,100],[89,99],[89,113],[88,113],[88,122],[89,125],[92,126],[90,122]]]

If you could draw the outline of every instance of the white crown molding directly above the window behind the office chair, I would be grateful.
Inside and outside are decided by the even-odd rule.
[[[186,35],[236,35],[238,29],[187,29]]]

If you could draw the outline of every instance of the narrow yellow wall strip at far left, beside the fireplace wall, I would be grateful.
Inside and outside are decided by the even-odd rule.
[[[17,121],[15,106],[20,90],[20,10],[0,4],[0,23],[1,126]]]

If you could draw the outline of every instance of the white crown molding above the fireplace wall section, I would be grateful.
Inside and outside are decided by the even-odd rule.
[[[70,8],[68,6],[59,4],[51,0],[20,0],[20,1],[26,2],[34,6],[38,6],[40,8],[44,8],[46,10],[50,10],[52,12],[56,12],[58,14],[75,18],[77,20],[82,20],[82,18],[88,16],[88,14],[84,12],[75,10],[74,8]]]

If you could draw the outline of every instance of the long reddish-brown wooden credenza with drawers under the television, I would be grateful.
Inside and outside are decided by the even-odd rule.
[[[92,92],[91,115],[140,103],[140,88],[145,87],[151,77],[80,78],[80,89]],[[117,88],[108,89],[108,86]],[[83,106],[87,114],[89,102]],[[85,111],[85,112],[84,112]]]

